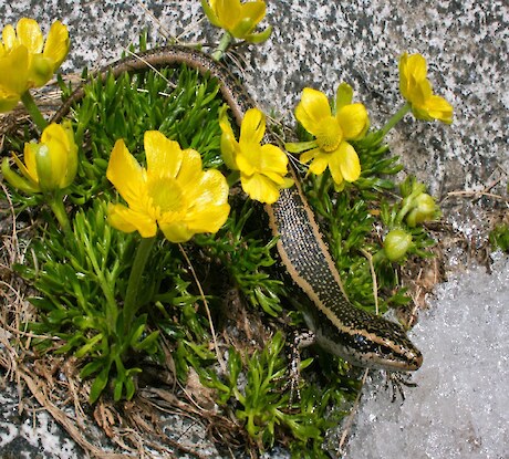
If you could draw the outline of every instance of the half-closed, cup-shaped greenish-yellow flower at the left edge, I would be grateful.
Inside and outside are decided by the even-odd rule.
[[[40,143],[24,144],[24,164],[15,155],[14,161],[23,177],[11,170],[7,158],[2,161],[2,174],[14,188],[33,194],[69,187],[77,169],[77,147],[71,124],[50,124]]]

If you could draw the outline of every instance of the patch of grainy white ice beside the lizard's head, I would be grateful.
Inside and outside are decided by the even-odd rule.
[[[346,456],[352,459],[509,458],[509,258],[436,288],[412,338],[423,351],[403,403],[374,375]]]

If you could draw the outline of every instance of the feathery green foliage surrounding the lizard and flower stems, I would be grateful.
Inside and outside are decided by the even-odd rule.
[[[62,87],[69,96],[69,87]],[[278,270],[277,239],[263,230],[267,225],[258,205],[233,190],[231,213],[216,234],[196,234],[180,248],[157,240],[150,251],[150,269],[137,292],[132,323],[124,314],[139,239],[135,233],[114,230],[106,221],[107,202],[116,199],[106,180],[110,153],[123,138],[143,164],[143,136],[146,131],[159,131],[181,148],[199,152],[205,167],[226,171],[220,156],[221,106],[217,83],[186,67],[123,74],[117,80],[113,75],[104,81],[95,77],[85,86],[83,101],[72,108],[80,159],[76,180],[67,189],[70,232],[55,226],[38,196],[14,190],[11,196],[19,212],[38,206],[40,225],[31,242],[33,260],[15,267],[37,291],[31,302],[40,314],[39,322],[31,324],[32,331],[61,338],[56,348],[53,342],[38,340],[37,350],[73,353],[82,365],[82,377],[92,380],[93,403],[100,396],[132,398],[143,359],[160,362],[163,345],[169,343],[177,378],[184,383],[193,367],[258,449],[283,444],[295,457],[326,457],[322,450],[324,432],[345,415],[343,409],[331,407],[345,406],[359,384],[346,376],[347,364],[319,355],[312,363],[305,362],[310,367],[303,374],[309,380],[300,398],[290,404],[280,328],[289,322],[288,316],[292,326],[303,321],[290,306],[293,291]],[[307,133],[300,133],[301,140],[309,140]],[[23,140],[29,139],[25,131]],[[12,140],[18,150],[22,144]],[[398,217],[415,180],[401,184],[401,196],[396,195],[394,177],[402,165],[389,156],[382,133],[351,144],[361,164],[356,181],[339,192],[325,173],[303,180],[303,187],[351,301],[374,311],[373,268],[378,304],[385,311],[409,301],[399,288],[398,267],[409,255],[427,257],[433,241],[422,226],[409,228]],[[383,236],[395,227],[412,234],[413,243],[406,255],[391,262],[384,257]],[[220,324],[224,291],[230,288],[247,300],[248,317],[261,316],[272,337],[264,346],[232,346],[227,372],[221,374],[210,344],[207,309],[215,325]],[[312,373],[320,376],[310,377]]]

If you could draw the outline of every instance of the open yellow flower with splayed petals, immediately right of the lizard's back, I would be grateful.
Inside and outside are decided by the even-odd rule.
[[[289,152],[305,152],[301,160],[312,160],[311,173],[320,175],[329,167],[336,187],[341,187],[343,180],[355,181],[360,177],[357,153],[346,140],[362,138],[370,127],[366,108],[363,104],[352,104],[352,87],[346,83],[340,84],[335,113],[332,113],[325,94],[305,87],[295,108],[295,117],[315,139],[287,144]]]

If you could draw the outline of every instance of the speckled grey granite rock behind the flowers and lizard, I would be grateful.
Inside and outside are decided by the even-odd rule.
[[[51,21],[62,19],[73,42],[64,72],[115,60],[145,28],[160,43],[165,38],[217,40],[217,31],[201,21],[197,0],[144,4],[136,0],[19,0],[0,2],[0,18],[15,23],[21,17],[32,17],[46,24],[45,30]],[[266,112],[292,123],[303,87],[332,95],[346,81],[367,106],[372,124],[381,126],[403,102],[397,90],[398,56],[404,51],[419,52],[428,60],[435,91],[454,105],[455,122],[444,126],[407,116],[389,135],[393,153],[435,195],[482,189],[499,178],[498,189],[507,187],[506,1],[274,0],[266,23],[274,28],[270,41],[240,51],[248,61],[246,85]],[[459,218],[465,222],[466,217]],[[13,441],[23,449],[21,436]],[[27,457],[45,457],[38,453],[28,451]]]

